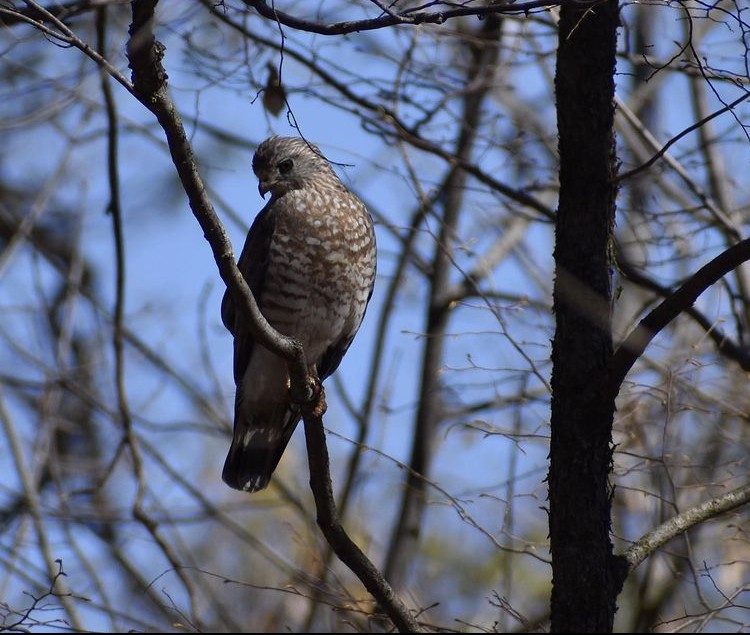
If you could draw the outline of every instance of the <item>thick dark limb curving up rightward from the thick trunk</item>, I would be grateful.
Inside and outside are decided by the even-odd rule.
[[[617,396],[625,376],[651,340],[680,313],[688,311],[698,296],[721,277],[750,260],[750,238],[722,252],[643,318],[612,356],[608,394]],[[743,366],[744,367],[744,366]]]

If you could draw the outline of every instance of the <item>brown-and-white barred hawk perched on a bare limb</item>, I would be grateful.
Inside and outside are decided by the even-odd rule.
[[[375,283],[372,219],[317,147],[270,137],[253,157],[258,191],[271,198],[255,218],[238,267],[266,320],[299,340],[308,373],[322,382],[352,343]],[[286,362],[256,343],[227,290],[224,326],[234,336],[234,435],[223,481],[265,488],[301,418]]]

